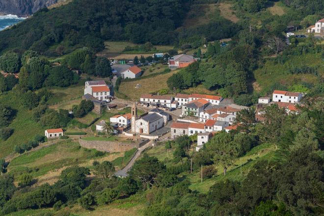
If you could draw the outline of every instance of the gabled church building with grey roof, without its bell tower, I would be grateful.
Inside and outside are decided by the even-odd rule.
[[[135,132],[150,134],[163,127],[163,125],[163,117],[157,113],[151,113],[135,121]]]

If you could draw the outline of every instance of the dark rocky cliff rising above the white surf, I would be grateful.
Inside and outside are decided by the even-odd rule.
[[[60,0],[0,0],[0,14],[27,17],[32,13],[57,3]]]

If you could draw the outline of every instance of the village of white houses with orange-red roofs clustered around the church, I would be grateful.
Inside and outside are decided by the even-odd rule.
[[[173,70],[185,68],[196,60],[190,55],[181,54],[170,58],[168,67]],[[136,65],[132,66],[132,63],[116,65],[115,68],[124,70],[114,70],[115,78],[121,76],[123,79],[133,79],[140,77],[142,72]],[[255,119],[264,120],[264,110],[271,104],[277,104],[288,114],[298,113],[296,105],[302,96],[302,93],[274,90],[272,96],[260,97],[253,106],[256,109]],[[236,121],[238,112],[249,109],[235,104],[232,99],[203,94],[142,94],[138,101],[123,100],[113,95],[113,86],[106,84],[105,80],[86,81],[82,98],[93,102],[93,112],[97,114],[116,109],[116,101],[131,108],[130,113],[114,115],[97,122],[95,136],[108,133],[124,139],[153,140],[152,144],[159,140],[174,140],[183,135],[197,136],[195,151],[199,151],[215,133],[236,129],[240,125]],[[137,109],[141,109],[143,114],[138,115]],[[58,138],[64,136],[64,132],[62,128],[48,129],[45,136],[49,139]]]

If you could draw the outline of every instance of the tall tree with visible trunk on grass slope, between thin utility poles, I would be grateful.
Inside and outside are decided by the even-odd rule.
[[[213,152],[214,163],[219,163],[223,167],[224,175],[226,175],[227,168],[233,164],[233,160],[237,154],[237,149],[230,142],[232,142],[231,135],[225,131],[221,131],[206,144],[207,149]]]

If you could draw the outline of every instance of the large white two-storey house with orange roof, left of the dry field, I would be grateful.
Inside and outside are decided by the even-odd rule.
[[[106,100],[110,97],[110,89],[104,80],[86,81],[84,95],[87,94],[98,100]]]

